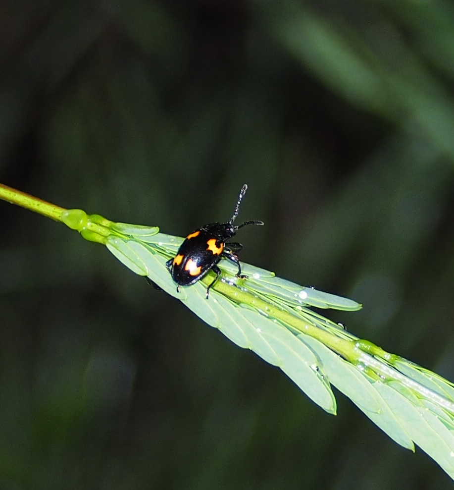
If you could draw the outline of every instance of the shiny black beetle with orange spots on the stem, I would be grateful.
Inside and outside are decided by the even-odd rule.
[[[221,271],[217,267],[221,259],[228,259],[238,266],[237,277],[241,276],[241,266],[237,253],[243,248],[240,243],[226,243],[226,240],[235,236],[236,232],[249,224],[263,225],[263,221],[252,220],[234,226],[233,222],[238,216],[241,201],[248,190],[243,185],[233,211],[232,218],[226,223],[208,223],[190,233],[178,249],[177,255],[166,262],[167,269],[172,279],[177,283],[177,292],[180,286],[189,286],[200,281],[209,271],[213,271],[216,277],[206,288],[206,299],[209,296],[210,287],[217,281]]]

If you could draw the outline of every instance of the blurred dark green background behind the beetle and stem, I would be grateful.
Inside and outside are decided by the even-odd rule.
[[[242,259],[454,380],[448,1],[3,1],[0,181]],[[0,489],[448,489],[100,245],[0,203]]]

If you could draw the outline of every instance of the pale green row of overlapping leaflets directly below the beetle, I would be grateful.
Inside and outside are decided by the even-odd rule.
[[[165,267],[166,259],[136,240],[110,239],[108,248],[127,267],[146,272],[152,281],[182,301],[190,310],[240,347],[249,348],[265,361],[279,366],[289,378],[324,410],[336,412],[336,401],[317,358],[288,329],[256,311],[242,308],[216,291],[206,300],[206,287],[197,282],[176,292]],[[162,242],[161,242],[162,244]]]

